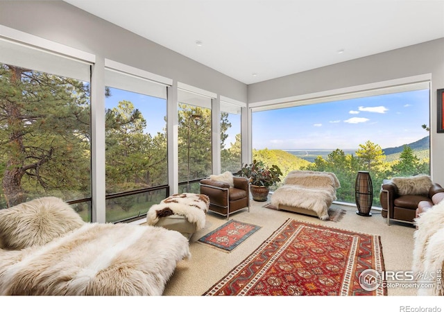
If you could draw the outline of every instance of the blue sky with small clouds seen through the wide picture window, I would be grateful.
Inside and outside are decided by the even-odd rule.
[[[428,135],[429,90],[253,113],[253,148],[357,149],[402,146]]]

